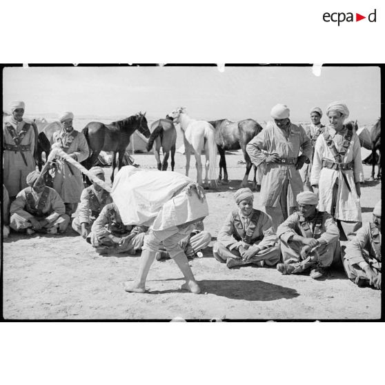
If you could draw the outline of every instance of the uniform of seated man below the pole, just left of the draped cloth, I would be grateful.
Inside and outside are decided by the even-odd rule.
[[[81,224],[85,223],[86,228],[90,230],[101,209],[110,203],[112,198],[106,190],[97,191],[94,186],[85,188],[81,192],[79,210],[77,217],[72,221],[72,228],[81,234]]]

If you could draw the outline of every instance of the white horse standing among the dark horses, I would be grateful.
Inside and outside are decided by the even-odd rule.
[[[206,177],[204,183],[208,187],[210,179],[210,188],[217,188],[217,175],[215,164],[217,164],[217,144],[215,143],[215,128],[204,120],[191,119],[186,112],[186,108],[180,107],[168,114],[174,123],[179,123],[183,132],[184,148],[186,155],[186,177],[190,169],[191,152],[197,161],[197,183],[202,186],[202,163],[201,152],[204,149],[206,154]]]

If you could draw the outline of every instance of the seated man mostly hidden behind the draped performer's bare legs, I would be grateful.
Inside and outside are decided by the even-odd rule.
[[[203,221],[199,221],[197,224],[194,224],[192,232],[181,239],[178,244],[184,250],[186,257],[192,259],[195,256],[201,256],[201,250],[206,248],[210,241],[211,234],[204,230]],[[159,250],[155,259],[157,259],[157,261],[170,259],[170,254],[166,250]]]

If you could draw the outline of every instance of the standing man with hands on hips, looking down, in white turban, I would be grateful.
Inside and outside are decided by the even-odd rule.
[[[261,205],[265,206],[276,231],[297,206],[297,194],[303,190],[298,170],[310,160],[313,150],[304,128],[291,123],[286,105],[277,104],[270,115],[273,120],[251,139],[246,151],[253,164],[264,172]]]

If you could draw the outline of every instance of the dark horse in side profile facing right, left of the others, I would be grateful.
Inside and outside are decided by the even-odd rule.
[[[103,124],[99,121],[91,121],[83,128],[83,134],[86,137],[88,147],[90,148],[90,157],[83,162],[83,166],[91,168],[97,162],[99,152],[112,151],[112,175],[111,182],[114,181],[114,172],[123,166],[123,157],[128,144],[130,144],[130,136],[135,130],[139,130],[146,138],[150,137],[150,130],[147,126],[146,112],[142,114],[138,112],[123,120],[113,121],[111,124]]]

